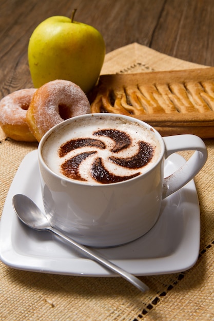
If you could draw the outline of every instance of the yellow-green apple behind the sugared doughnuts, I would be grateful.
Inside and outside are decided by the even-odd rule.
[[[101,33],[64,16],[47,18],[38,25],[28,45],[28,63],[35,88],[54,79],[65,79],[88,93],[99,78],[104,57]]]

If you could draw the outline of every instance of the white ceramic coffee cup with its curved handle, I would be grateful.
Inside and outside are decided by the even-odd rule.
[[[126,124],[133,124],[152,135],[154,145],[157,145],[154,149],[159,150],[148,169],[122,182],[100,184],[68,178],[46,164],[45,153],[49,153],[54,162],[58,157],[57,146],[65,139],[62,133],[68,134],[67,140],[81,128],[82,122],[88,127],[97,124],[99,128],[106,120],[109,124],[123,122],[125,130],[128,129]],[[87,136],[87,131],[83,135]],[[47,146],[52,149],[49,151]],[[164,178],[164,160],[183,150],[194,150],[194,153],[179,170]],[[93,247],[122,245],[141,237],[154,226],[162,199],[187,184],[201,170],[206,159],[205,144],[195,135],[161,137],[150,125],[125,115],[101,113],[73,117],[51,128],[38,146],[44,208],[52,226],[79,243]]]

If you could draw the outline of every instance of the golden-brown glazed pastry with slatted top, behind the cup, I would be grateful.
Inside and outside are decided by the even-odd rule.
[[[91,112],[139,118],[162,136],[214,137],[214,67],[101,75]]]

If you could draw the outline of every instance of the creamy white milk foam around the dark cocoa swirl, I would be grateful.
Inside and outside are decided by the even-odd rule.
[[[115,141],[103,135],[94,135],[99,130],[112,129],[127,133],[131,137],[131,145],[118,152],[112,152]],[[98,139],[106,145],[101,149],[94,146],[86,146],[71,150],[63,157],[59,156],[60,147],[71,139],[92,138]],[[130,159],[139,152],[139,142],[146,142],[153,149],[151,160],[141,168],[126,168],[116,165],[110,160],[110,157]],[[130,176],[148,171],[158,160],[161,152],[160,143],[155,137],[153,131],[150,131],[138,123],[129,122],[123,118],[105,118],[100,116],[76,119],[75,122],[67,124],[59,131],[53,132],[46,140],[43,146],[42,154],[45,163],[55,173],[64,176],[62,173],[62,164],[69,161],[71,157],[78,157],[83,152],[94,152],[87,156],[78,166],[81,179],[84,183],[100,184],[91,176],[91,168],[94,160],[99,157],[104,164],[105,169],[112,176]],[[64,176],[65,177],[65,176]]]

